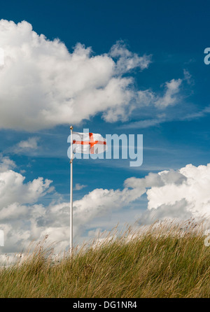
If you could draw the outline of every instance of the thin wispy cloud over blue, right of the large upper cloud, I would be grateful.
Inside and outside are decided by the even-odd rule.
[[[183,101],[181,88],[183,88],[183,84],[186,81],[188,84],[190,84],[189,79],[192,79],[190,77],[190,73],[184,71],[184,76],[182,79],[179,78],[167,81],[164,84],[165,90],[163,90],[163,92],[153,92],[150,89],[144,91],[139,90],[137,92],[136,105],[132,106],[130,113],[133,111],[133,109],[139,108],[141,110],[141,115],[137,110],[134,111],[134,113],[136,113],[136,115],[139,115],[141,120],[121,125],[119,128],[142,129],[160,125],[162,122],[169,122],[172,120],[199,118],[202,117],[204,114],[208,113],[208,108],[199,113],[191,113],[191,115],[183,113],[183,107],[179,105]],[[177,105],[179,105],[179,110],[177,110],[177,108],[174,108],[174,106]],[[185,106],[185,109],[186,107],[187,106]]]

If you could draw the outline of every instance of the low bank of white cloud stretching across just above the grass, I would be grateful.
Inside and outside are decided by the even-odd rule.
[[[9,169],[9,168],[13,168]],[[3,253],[20,252],[29,243],[50,235],[50,241],[59,241],[58,250],[69,246],[69,202],[56,199],[40,204],[41,198],[51,192],[52,181],[37,178],[25,183],[25,177],[14,171],[15,164],[8,158],[0,163],[0,229],[5,234]],[[94,232],[91,224],[106,229],[107,216],[137,207],[139,222],[151,224],[155,220],[205,218],[210,216],[210,164],[187,166],[174,171],[149,173],[144,178],[127,178],[122,190],[95,189],[73,202],[73,235],[77,241],[85,232]],[[148,199],[146,211],[141,209],[141,196]],[[139,218],[138,216],[138,218]],[[104,219],[105,218],[105,219]],[[137,218],[133,222],[137,221]],[[93,223],[92,223],[93,222]],[[90,235],[90,233],[89,233]],[[90,239],[88,236],[87,239]]]

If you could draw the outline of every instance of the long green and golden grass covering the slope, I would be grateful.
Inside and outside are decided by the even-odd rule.
[[[38,245],[2,267],[0,297],[210,297],[210,247],[193,222],[128,228],[71,256],[52,255]]]

